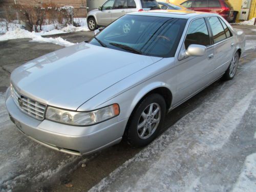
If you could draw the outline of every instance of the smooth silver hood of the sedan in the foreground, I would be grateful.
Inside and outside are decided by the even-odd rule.
[[[103,90],[160,59],[82,42],[18,67],[11,74],[11,82],[31,99],[77,110]]]

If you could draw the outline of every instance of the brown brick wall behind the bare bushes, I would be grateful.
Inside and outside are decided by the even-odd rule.
[[[4,5],[13,5],[14,2],[14,0],[0,0],[0,7]],[[87,16],[86,0],[16,0],[16,4],[22,5],[41,5],[50,3],[54,3],[58,6],[73,6],[75,9],[75,17]]]

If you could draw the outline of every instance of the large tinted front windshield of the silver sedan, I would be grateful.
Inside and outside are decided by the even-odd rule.
[[[174,57],[186,19],[124,15],[89,43],[135,54]]]

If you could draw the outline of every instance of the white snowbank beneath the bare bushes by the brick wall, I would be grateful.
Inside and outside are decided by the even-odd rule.
[[[80,20],[79,20],[80,19]],[[24,29],[16,28],[11,31],[7,31],[4,35],[0,36],[0,41],[8,40],[8,39],[17,39],[17,38],[31,38],[31,42],[50,42],[52,44],[60,45],[69,47],[74,45],[72,42],[69,42],[61,37],[57,38],[47,38],[42,37],[41,35],[54,35],[54,34],[61,34],[61,33],[72,33],[72,32],[80,32],[80,31],[89,31],[86,23],[86,18],[75,18],[77,23],[81,25],[81,27],[75,27],[73,25],[68,25],[62,29],[53,29],[50,31],[41,31],[41,32],[29,32]],[[44,26],[43,26],[44,29]],[[49,25],[46,29],[50,29]]]

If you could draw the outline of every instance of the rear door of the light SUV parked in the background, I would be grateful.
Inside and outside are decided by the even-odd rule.
[[[125,15],[127,12],[127,0],[116,0],[111,11],[111,22]]]

